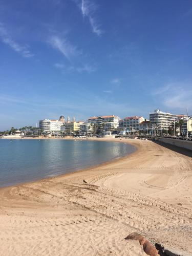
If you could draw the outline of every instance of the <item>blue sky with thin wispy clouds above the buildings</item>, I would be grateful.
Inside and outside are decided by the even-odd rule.
[[[0,131],[192,114],[191,0],[0,0]]]

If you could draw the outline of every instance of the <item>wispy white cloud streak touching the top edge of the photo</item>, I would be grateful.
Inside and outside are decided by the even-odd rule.
[[[93,33],[98,36],[103,34],[103,30],[101,29],[101,25],[95,14],[98,9],[97,5],[90,0],[81,0],[81,3],[78,4],[78,6],[80,7],[83,18],[87,17],[89,19]]]

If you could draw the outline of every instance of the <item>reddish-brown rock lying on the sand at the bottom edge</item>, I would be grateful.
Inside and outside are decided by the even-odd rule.
[[[138,240],[140,245],[143,246],[144,252],[150,256],[159,255],[159,252],[155,248],[155,246],[152,243],[150,243],[150,241],[148,241],[146,238],[141,236],[141,234],[138,234],[137,232],[133,232],[133,233],[129,234],[129,236],[127,236],[125,239],[126,240]]]

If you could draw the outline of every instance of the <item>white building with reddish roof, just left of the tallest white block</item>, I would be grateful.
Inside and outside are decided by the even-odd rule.
[[[129,132],[139,131],[139,124],[143,122],[145,119],[142,116],[130,116],[122,119],[122,128]]]

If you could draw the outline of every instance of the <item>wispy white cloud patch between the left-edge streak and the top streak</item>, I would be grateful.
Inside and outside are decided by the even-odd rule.
[[[76,46],[73,46],[68,40],[60,38],[57,35],[50,37],[49,44],[54,49],[60,51],[68,60],[81,54],[81,51]]]

